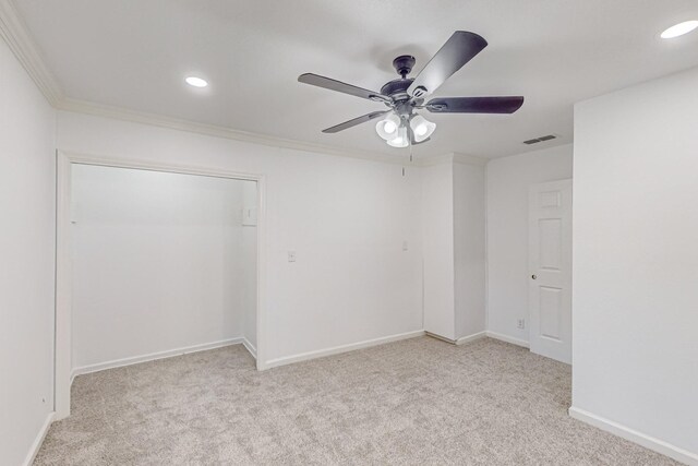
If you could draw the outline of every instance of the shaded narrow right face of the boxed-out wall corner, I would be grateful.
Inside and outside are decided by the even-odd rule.
[[[485,330],[484,165],[454,164],[455,339]]]

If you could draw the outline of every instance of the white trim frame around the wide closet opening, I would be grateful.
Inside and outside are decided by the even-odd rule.
[[[70,416],[72,374],[72,265],[71,265],[71,166],[94,165],[113,168],[195,175],[257,183],[257,297],[256,368],[266,369],[266,177],[261,174],[229,171],[214,167],[193,167],[152,160],[99,157],[56,151],[56,320],[53,335],[53,410],[55,419]]]

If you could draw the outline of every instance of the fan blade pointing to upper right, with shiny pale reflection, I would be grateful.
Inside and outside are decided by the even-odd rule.
[[[481,36],[467,31],[456,31],[420,71],[407,93],[412,97],[432,94],[486,46],[488,41]]]

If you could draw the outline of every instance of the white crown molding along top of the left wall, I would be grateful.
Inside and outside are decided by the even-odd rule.
[[[63,97],[58,81],[28,33],[12,0],[0,0],[0,36],[10,47],[46,99],[56,107]]]

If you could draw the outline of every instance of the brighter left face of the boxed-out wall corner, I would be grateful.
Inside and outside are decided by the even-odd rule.
[[[456,339],[454,166],[422,168],[421,229],[424,263],[424,330]]]

